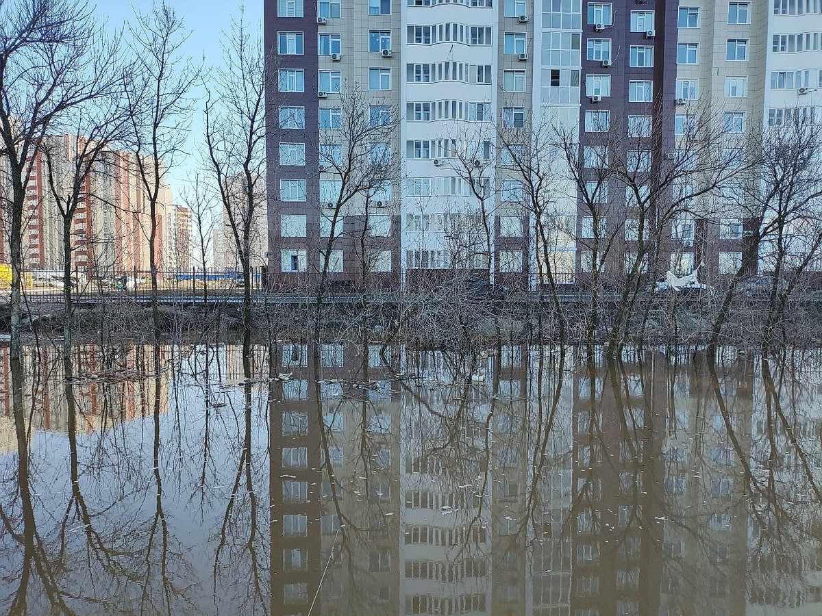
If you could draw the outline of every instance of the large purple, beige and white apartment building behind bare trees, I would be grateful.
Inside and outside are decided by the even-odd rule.
[[[644,174],[643,195],[683,165],[694,131],[723,135],[732,158],[750,129],[794,113],[815,117],[820,11],[818,0],[269,0],[267,60],[277,74],[267,93],[270,271],[288,284],[320,267],[322,195],[339,177],[321,165],[318,145],[335,131],[344,136],[340,93],[356,84],[372,122],[396,114],[390,149],[401,172],[381,191],[381,209],[372,205],[364,234],[363,203],[346,205],[333,278],[358,277],[353,240],[363,235],[381,238],[386,283],[454,269],[533,287],[545,260],[559,282],[583,282],[597,235],[592,201],[597,225],[616,240],[604,268],[621,273],[639,223],[624,183],[613,174],[605,186],[595,182],[603,144]],[[525,146],[510,140],[517,131],[579,145],[576,177],[567,177],[568,149],[544,140],[535,154],[556,164],[547,239],[536,237],[523,178],[503,147]],[[654,201],[688,188],[682,182]],[[716,186],[672,220],[654,222],[661,206],[647,207],[644,224],[658,227],[655,271],[687,273],[700,262],[708,280],[736,271],[751,231],[741,205],[737,187]]]

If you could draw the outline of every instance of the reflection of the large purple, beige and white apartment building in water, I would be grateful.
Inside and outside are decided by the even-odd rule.
[[[272,386],[276,613],[305,616],[315,595],[312,614],[818,611],[797,459],[776,461],[792,522],[751,516],[765,503],[746,497],[744,464],[762,475],[770,451],[745,358],[714,388],[700,361],[656,352],[609,367],[558,348],[388,348],[388,369],[378,345],[322,345],[320,365],[309,348],[275,357],[292,375]],[[818,423],[797,424],[814,460]]]

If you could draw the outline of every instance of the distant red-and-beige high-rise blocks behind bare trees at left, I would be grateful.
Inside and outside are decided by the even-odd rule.
[[[77,153],[85,147],[76,136],[45,140],[58,191],[69,191]],[[44,146],[44,147],[46,147]],[[35,154],[25,204],[23,246],[25,268],[62,270],[63,226],[49,184],[47,157]],[[147,271],[150,255],[150,214],[145,189],[133,154],[104,152],[85,178],[81,200],[72,219],[73,268],[95,275]],[[169,186],[159,192],[155,257],[158,269],[190,268],[191,218],[187,208],[173,204]]]

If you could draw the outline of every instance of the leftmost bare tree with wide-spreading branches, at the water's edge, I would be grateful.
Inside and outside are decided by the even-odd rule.
[[[21,349],[27,189],[35,152],[67,110],[109,89],[110,58],[85,2],[0,4],[0,200],[12,264],[12,357]]]

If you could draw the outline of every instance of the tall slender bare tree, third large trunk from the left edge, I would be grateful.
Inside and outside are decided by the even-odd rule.
[[[182,19],[165,2],[147,14],[136,14],[130,28],[132,58],[123,71],[122,87],[131,126],[130,149],[134,154],[136,181],[149,206],[149,266],[151,315],[155,337],[160,338],[157,297],[158,235],[165,204],[166,173],[182,152],[187,138],[192,85],[200,69],[182,55],[187,38]]]

